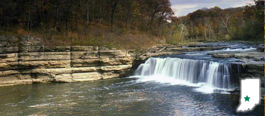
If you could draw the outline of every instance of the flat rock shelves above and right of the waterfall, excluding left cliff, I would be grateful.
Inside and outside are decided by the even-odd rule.
[[[242,42],[242,41],[241,41]],[[240,43],[241,43],[240,42]],[[163,44],[157,45],[149,49],[149,52],[141,54],[133,54],[136,57],[134,62],[140,64],[144,63],[146,59],[151,56],[161,56],[170,54],[183,54],[187,51],[207,51],[217,50],[230,47],[224,44],[195,44],[195,45],[170,45]],[[162,50],[161,50],[162,49]],[[159,51],[159,52],[157,52]],[[209,52],[215,58],[238,58],[234,63],[231,63],[231,81],[235,86],[240,86],[240,80],[244,78],[260,78],[260,95],[264,99],[264,44],[256,46],[256,50],[250,51],[216,51]],[[133,68],[136,68],[133,66]],[[239,88],[238,88],[239,89]],[[232,90],[235,92],[237,90]],[[239,93],[239,92],[236,92]]]

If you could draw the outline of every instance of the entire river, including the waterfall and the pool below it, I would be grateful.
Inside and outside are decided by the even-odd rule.
[[[233,45],[219,51],[254,50]],[[0,87],[0,115],[264,115],[264,100],[236,112],[239,96],[227,90],[237,59],[207,52],[150,58],[130,77]]]

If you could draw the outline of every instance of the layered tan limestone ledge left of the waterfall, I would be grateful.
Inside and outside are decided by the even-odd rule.
[[[43,46],[40,38],[0,36],[0,86],[123,77],[133,58],[106,46]]]

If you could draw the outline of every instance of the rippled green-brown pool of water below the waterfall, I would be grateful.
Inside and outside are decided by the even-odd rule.
[[[237,113],[239,96],[139,78],[0,87],[0,115],[264,115]]]

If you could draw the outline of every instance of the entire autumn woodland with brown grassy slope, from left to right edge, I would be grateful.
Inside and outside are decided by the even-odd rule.
[[[264,0],[176,16],[170,0],[1,0],[0,35],[33,35],[45,45],[142,50],[157,43],[263,42]]]

